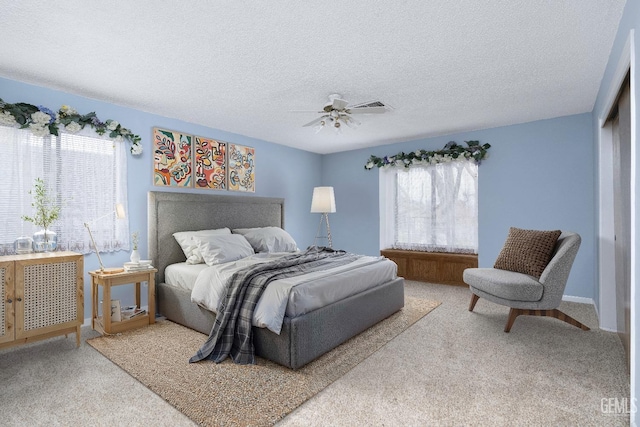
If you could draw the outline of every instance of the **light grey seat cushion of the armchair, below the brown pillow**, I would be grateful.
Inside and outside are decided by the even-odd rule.
[[[467,268],[462,277],[471,288],[509,301],[540,301],[544,290],[529,275],[497,268]]]

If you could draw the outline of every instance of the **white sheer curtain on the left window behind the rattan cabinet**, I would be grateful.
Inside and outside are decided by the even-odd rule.
[[[58,249],[83,254],[93,250],[84,227],[89,222],[101,252],[129,249],[129,221],[115,216],[116,203],[127,210],[127,147],[93,131],[35,136],[29,129],[0,126],[4,184],[0,187],[0,254],[13,252],[19,236],[40,227],[21,219],[33,215],[33,190],[41,178],[61,206],[51,229]]]

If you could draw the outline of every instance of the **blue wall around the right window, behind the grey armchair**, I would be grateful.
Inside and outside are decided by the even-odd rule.
[[[370,155],[441,149],[448,141],[491,144],[480,165],[479,265],[493,265],[510,226],[571,230],[582,236],[565,294],[594,297],[594,172],[591,115],[504,126],[325,155],[323,185],[335,187],[334,246],[379,253],[378,171]]]

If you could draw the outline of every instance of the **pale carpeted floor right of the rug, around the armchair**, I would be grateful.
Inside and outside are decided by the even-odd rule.
[[[629,398],[617,334],[598,329],[592,305],[562,302],[585,332],[519,316],[469,289],[413,281],[405,295],[442,305],[296,411],[288,426],[628,426],[602,400]]]

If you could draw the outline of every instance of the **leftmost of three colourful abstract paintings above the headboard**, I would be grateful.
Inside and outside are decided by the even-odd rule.
[[[153,128],[153,184],[191,187],[193,136]]]

